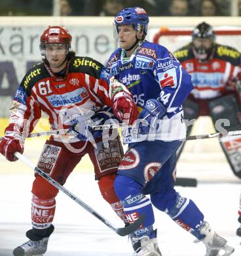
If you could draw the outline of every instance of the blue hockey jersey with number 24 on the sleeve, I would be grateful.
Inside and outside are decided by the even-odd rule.
[[[126,58],[124,50],[119,48],[111,54],[106,71],[129,89],[140,111],[150,98],[158,98],[166,106],[167,114],[161,120],[155,139],[185,138],[181,104],[193,85],[191,75],[168,49],[143,41],[132,56]]]

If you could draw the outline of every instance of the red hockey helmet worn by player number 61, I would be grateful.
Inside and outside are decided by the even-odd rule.
[[[64,26],[48,26],[40,37],[41,54],[45,55],[45,45],[66,45],[67,51],[71,48],[72,37]]]

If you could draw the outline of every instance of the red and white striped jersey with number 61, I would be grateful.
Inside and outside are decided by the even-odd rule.
[[[111,106],[103,65],[75,56],[67,62],[64,74],[53,74],[45,63],[28,71],[14,96],[10,123],[17,132],[31,133],[45,112],[51,129],[66,129],[76,115],[96,112],[103,106]],[[68,139],[77,141],[75,137]]]

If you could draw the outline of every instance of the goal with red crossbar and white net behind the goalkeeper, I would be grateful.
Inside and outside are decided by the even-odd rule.
[[[241,28],[213,28],[216,42],[241,51]],[[191,41],[193,28],[161,28],[153,33],[153,42],[164,45],[171,52]],[[191,135],[215,132],[210,117],[199,117]],[[177,177],[194,177],[198,181],[238,182],[232,173],[218,139],[187,141],[179,163]]]

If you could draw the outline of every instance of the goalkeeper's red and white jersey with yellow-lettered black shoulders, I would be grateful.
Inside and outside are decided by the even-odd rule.
[[[231,81],[241,72],[241,56],[236,49],[215,43],[211,58],[205,62],[195,58],[191,43],[174,54],[192,77],[194,98],[211,99],[234,91]]]

